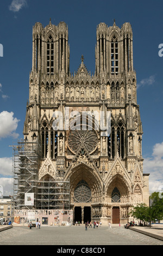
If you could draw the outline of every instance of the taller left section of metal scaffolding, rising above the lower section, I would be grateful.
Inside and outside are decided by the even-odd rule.
[[[13,198],[15,209],[36,207],[37,179],[40,160],[40,145],[37,142],[20,140],[13,146]],[[25,205],[26,193],[34,193],[34,204]]]

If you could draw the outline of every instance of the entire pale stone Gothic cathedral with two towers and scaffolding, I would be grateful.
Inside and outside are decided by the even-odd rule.
[[[24,138],[14,149],[17,216],[126,223],[132,206],[148,205],[133,32],[100,23],[96,37],[95,74],[82,56],[72,75],[66,23],[33,27]]]

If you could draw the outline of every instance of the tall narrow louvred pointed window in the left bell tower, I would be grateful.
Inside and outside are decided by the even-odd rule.
[[[54,41],[51,34],[47,40],[47,75],[54,75]]]

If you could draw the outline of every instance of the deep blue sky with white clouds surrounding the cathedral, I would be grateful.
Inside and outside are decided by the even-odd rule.
[[[32,68],[32,28],[35,22],[45,27],[51,18],[68,25],[70,70],[78,69],[80,58],[95,72],[96,28],[100,22],[121,28],[130,22],[133,29],[134,69],[137,75],[137,103],[143,125],[144,172],[150,191],[163,185],[163,44],[162,1],[109,0],[6,0],[1,1],[0,44],[0,185],[4,195],[11,194],[11,157],[9,145],[22,138]],[[7,121],[6,121],[7,120]]]

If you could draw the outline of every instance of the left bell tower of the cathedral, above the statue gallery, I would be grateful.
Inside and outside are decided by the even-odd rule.
[[[43,28],[40,22],[33,27],[32,71],[39,74],[56,75],[69,72],[70,48],[68,28],[65,22],[58,26],[49,24]]]

